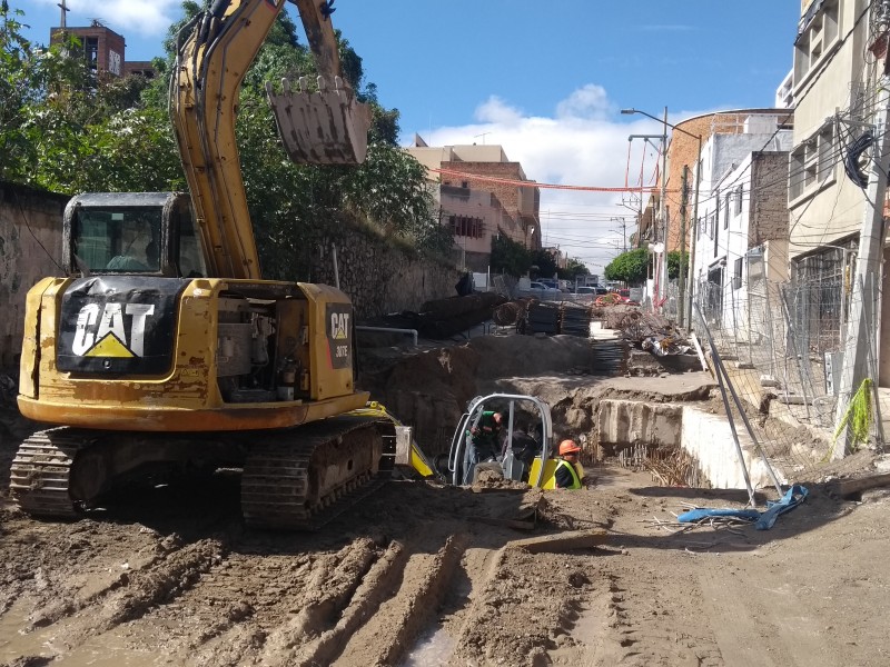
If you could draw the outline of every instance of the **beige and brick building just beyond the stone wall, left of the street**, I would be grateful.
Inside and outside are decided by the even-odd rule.
[[[439,220],[452,231],[463,266],[487,270],[492,239],[498,235],[541,248],[541,190],[501,146],[432,147],[415,136],[405,150],[426,167]]]

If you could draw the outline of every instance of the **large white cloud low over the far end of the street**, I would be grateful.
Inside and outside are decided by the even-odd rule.
[[[615,121],[611,120],[616,119]],[[656,123],[645,119],[617,122],[621,117],[601,86],[586,84],[555,107],[553,118],[528,116],[508,101],[492,97],[475,112],[477,122],[462,127],[441,127],[423,133],[429,146],[496,143],[510,160],[522,163],[528,179],[541,183],[623,188],[629,170],[631,133],[653,133]],[[630,160],[630,182],[639,181],[644,145],[634,141]],[[651,185],[654,149],[645,147],[645,178]],[[602,275],[624,249],[634,231],[636,195],[572,189],[541,190],[541,220],[544,242],[560,246],[570,257],[583,261]],[[626,205],[633,206],[633,210]]]

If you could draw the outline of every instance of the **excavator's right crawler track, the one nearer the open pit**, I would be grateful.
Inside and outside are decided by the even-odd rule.
[[[269,434],[245,461],[245,521],[278,530],[320,528],[385,484],[378,472],[390,430],[389,421],[342,416]]]

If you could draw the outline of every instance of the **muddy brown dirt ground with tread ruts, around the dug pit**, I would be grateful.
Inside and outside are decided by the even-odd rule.
[[[591,347],[390,350],[366,359],[365,386],[428,419],[431,446],[449,426],[435,419],[495,388],[546,398],[560,437],[593,437],[605,395],[709,399],[702,374],[597,376]],[[810,496],[771,530],[679,531],[674,514],[746,494],[657,487],[589,451],[578,491],[394,480],[313,534],[245,529],[237,470],[131,486],[49,522],[9,500],[30,425],[2,411],[0,665],[890,664],[886,490],[849,501],[800,480]]]

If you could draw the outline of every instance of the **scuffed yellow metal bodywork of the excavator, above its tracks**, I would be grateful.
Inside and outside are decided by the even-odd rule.
[[[334,328],[330,305],[349,305],[340,291],[324,285],[196,279],[178,298],[176,337],[171,362],[160,375],[103,376],[101,371],[72,372],[58,368],[58,331],[62,295],[71,278],[47,278],[28,295],[27,335],[22,350],[19,407],[39,421],[98,429],[138,431],[220,431],[285,428],[363,407],[366,392],[355,391],[352,364],[335,368],[333,360],[349,342],[348,317]],[[258,293],[278,300],[247,299],[239,288],[260,288]],[[276,289],[278,291],[276,291]],[[263,292],[268,291],[268,295]],[[275,295],[271,292],[276,291]],[[281,297],[284,291],[287,296]],[[251,293],[257,293],[251,290]],[[250,322],[259,310],[268,313],[274,330],[268,341],[280,356],[294,354],[294,396],[283,396],[280,379],[255,396],[224,396],[220,372],[235,354],[248,354],[230,335],[243,330],[241,340],[255,342],[258,327]],[[69,316],[70,317],[70,316]],[[265,317],[265,315],[263,316]],[[85,356],[117,359],[132,356],[138,321],[122,321],[116,331],[99,313],[80,345]],[[136,318],[132,318],[136,320]],[[129,323],[130,330],[127,330]],[[343,327],[343,325],[346,325]],[[145,336],[145,332],[142,332]],[[294,347],[294,350],[286,347]],[[138,351],[138,350],[137,350]],[[227,354],[229,352],[229,354]],[[263,399],[268,400],[263,400]],[[241,400],[239,400],[241,399]],[[250,400],[244,400],[250,399]],[[288,400],[289,399],[289,400]]]

